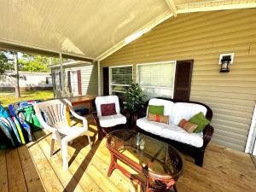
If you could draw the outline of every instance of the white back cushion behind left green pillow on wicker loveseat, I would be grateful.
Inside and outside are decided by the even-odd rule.
[[[148,102],[148,105],[156,105],[156,106],[164,106],[164,115],[169,115],[169,123],[171,123],[171,114],[172,114],[172,108],[173,108],[173,102],[165,100],[165,99],[150,99]],[[147,115],[148,115],[148,109],[147,109]]]

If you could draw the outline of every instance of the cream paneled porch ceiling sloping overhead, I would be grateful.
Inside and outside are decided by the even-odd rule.
[[[250,7],[256,0],[0,0],[0,43],[102,59],[172,15]]]

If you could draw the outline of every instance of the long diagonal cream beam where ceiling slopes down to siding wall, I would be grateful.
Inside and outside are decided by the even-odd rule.
[[[164,14],[162,14],[162,15],[158,16],[157,18],[155,18],[154,20],[151,20],[150,22],[148,22],[147,25],[145,25],[141,29],[137,30],[137,32],[132,33],[130,36],[128,36],[127,38],[120,41],[118,44],[115,44],[112,48],[105,51],[102,55],[97,57],[97,60],[102,61],[109,55],[112,55],[114,52],[116,52],[117,50],[124,47],[126,44],[130,44],[131,41],[134,41],[135,39],[141,37],[144,33],[148,32],[152,28],[154,28],[154,26],[159,25],[160,23],[169,19],[172,16],[173,16],[173,14],[169,10],[166,11]]]

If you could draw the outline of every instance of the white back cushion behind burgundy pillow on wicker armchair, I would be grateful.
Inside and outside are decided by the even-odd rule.
[[[98,116],[102,116],[101,105],[109,104],[109,103],[115,103],[116,113],[117,114],[120,113],[119,97],[118,96],[97,96],[95,99],[95,104],[96,104],[96,110],[97,110]]]

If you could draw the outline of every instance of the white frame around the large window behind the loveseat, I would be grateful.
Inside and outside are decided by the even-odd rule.
[[[173,70],[173,83],[172,83],[172,98],[173,98],[173,95],[174,95],[174,85],[175,85],[175,76],[176,76],[176,67],[177,67],[177,61],[157,61],[157,62],[147,62],[147,63],[139,63],[137,64],[137,84],[139,84],[139,71],[138,71],[138,67],[139,66],[150,66],[150,65],[158,65],[158,64],[165,64],[165,63],[170,63],[170,65],[172,65],[172,62],[174,63],[174,70]],[[155,86],[143,86],[145,88],[159,88],[159,89],[163,89],[166,87],[155,87]],[[171,88],[170,88],[171,90]]]

